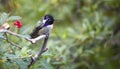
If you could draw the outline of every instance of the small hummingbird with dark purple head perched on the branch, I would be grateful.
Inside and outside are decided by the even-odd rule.
[[[39,23],[39,22],[38,22]],[[36,26],[30,34],[31,38],[36,38],[40,35],[47,35],[53,28],[54,18],[47,14],[43,17],[42,24]]]

